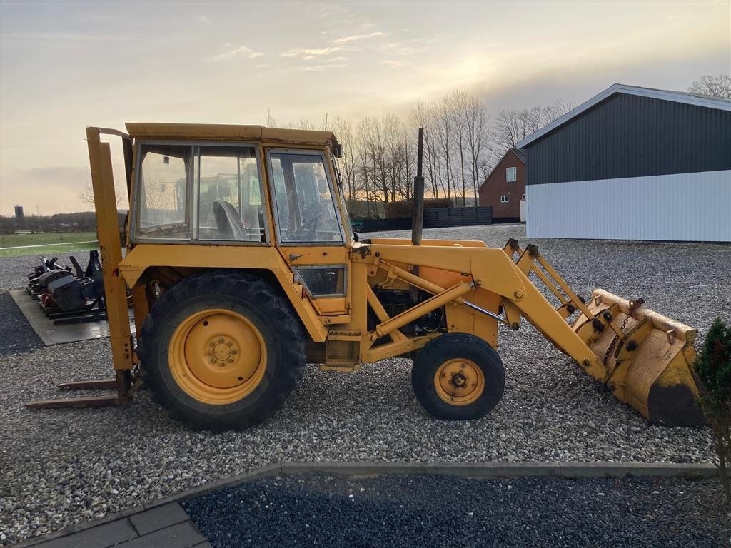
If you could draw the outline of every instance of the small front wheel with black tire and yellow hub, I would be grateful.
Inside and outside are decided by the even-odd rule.
[[[419,403],[438,419],[480,419],[499,403],[505,370],[498,353],[469,333],[447,333],[428,343],[412,369]]]

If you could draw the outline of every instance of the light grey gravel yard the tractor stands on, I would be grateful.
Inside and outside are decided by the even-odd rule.
[[[406,236],[406,232],[401,232]],[[502,246],[520,226],[430,229],[425,237]],[[728,246],[537,240],[578,292],[595,286],[647,305],[701,334],[731,310]],[[3,289],[23,285],[29,258],[3,259]],[[6,303],[8,304],[8,303]],[[14,307],[14,303],[9,303]],[[0,311],[3,316],[6,311]],[[276,460],[709,462],[705,429],[648,425],[602,390],[529,324],[501,332],[502,402],[477,422],[439,422],[420,408],[410,360],[354,375],[308,366],[287,407],[243,433],[188,432],[140,392],[129,408],[43,410],[58,381],[110,373],[108,340],[0,357],[0,544],[48,533]]]

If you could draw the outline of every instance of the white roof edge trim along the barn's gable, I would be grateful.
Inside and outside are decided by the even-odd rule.
[[[549,123],[542,129],[539,129],[534,134],[529,135],[522,141],[515,145],[517,148],[524,148],[540,139],[545,134],[553,132],[554,129],[559,126],[563,126],[572,118],[577,117],[584,111],[594,107],[595,104],[604,101],[608,97],[614,94],[626,94],[626,95],[638,95],[642,97],[651,97],[653,99],[662,99],[664,101],[674,101],[678,103],[694,104],[697,107],[708,107],[719,110],[730,110],[731,111],[731,99],[724,99],[723,97],[713,97],[710,95],[693,94],[686,91],[669,91],[665,89],[655,88],[641,88],[638,85],[626,85],[626,84],[613,84],[609,88],[602,91],[602,93],[595,95],[586,102],[583,102],[578,107],[569,110],[566,114],[560,118],[556,118],[553,122]]]

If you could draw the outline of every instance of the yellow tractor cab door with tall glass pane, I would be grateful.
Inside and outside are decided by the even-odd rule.
[[[348,313],[345,235],[323,151],[266,149],[276,245],[327,323]]]

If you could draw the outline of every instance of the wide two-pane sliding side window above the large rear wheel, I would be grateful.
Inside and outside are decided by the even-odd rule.
[[[135,240],[267,241],[251,145],[140,144]]]

